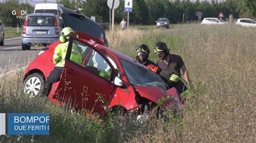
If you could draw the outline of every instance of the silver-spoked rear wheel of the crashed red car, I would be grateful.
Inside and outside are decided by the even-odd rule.
[[[31,97],[42,96],[44,88],[44,77],[42,74],[33,73],[26,77],[24,81],[24,93]]]

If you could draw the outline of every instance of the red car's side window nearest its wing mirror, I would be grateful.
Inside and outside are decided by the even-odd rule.
[[[112,69],[109,66],[109,63],[107,63],[102,55],[100,55],[94,49],[92,49],[92,53],[89,59],[85,62],[84,67],[93,74],[103,77],[106,80],[110,80]]]

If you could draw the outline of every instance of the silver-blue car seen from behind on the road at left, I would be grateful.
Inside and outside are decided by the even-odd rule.
[[[42,44],[44,46],[57,41],[62,27],[58,16],[53,13],[30,13],[24,22],[22,31],[22,49]]]

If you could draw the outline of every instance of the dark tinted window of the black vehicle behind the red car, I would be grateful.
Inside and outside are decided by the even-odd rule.
[[[79,15],[64,15],[63,19],[65,19],[65,25],[68,25],[73,30],[90,34],[97,39],[100,39],[101,36],[104,35],[100,28],[87,23],[85,18],[78,16]]]

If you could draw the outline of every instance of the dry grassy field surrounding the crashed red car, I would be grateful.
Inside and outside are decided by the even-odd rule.
[[[1,142],[255,142],[256,28],[235,25],[154,26],[107,32],[109,46],[134,58],[135,49],[147,44],[150,59],[158,41],[183,58],[194,94],[169,120],[152,118],[146,124],[121,124],[109,114],[103,121],[70,115],[43,98],[25,97],[23,71],[0,80],[0,112],[50,113],[50,136],[1,136]]]

